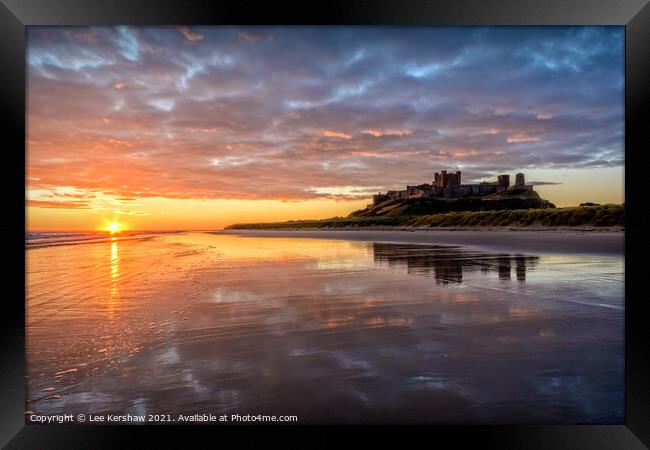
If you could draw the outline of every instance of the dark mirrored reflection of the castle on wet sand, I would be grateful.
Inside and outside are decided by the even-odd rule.
[[[389,267],[406,266],[407,273],[432,275],[437,283],[461,283],[463,270],[480,270],[484,275],[498,273],[500,280],[510,280],[512,269],[518,281],[526,280],[538,256],[481,253],[454,246],[373,243],[374,260]]]

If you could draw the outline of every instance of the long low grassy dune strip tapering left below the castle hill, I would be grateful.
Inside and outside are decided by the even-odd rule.
[[[575,206],[550,209],[448,212],[430,215],[333,217],[322,220],[242,223],[226,229],[340,228],[368,226],[462,227],[462,226],[625,226],[625,204]]]

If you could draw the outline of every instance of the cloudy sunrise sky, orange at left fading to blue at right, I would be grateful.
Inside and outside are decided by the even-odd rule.
[[[459,169],[624,201],[623,27],[28,27],[30,230],[345,216]]]

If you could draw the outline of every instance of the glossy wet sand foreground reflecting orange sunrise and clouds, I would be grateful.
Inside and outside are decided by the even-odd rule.
[[[29,248],[26,409],[622,422],[620,253],[264,233]]]

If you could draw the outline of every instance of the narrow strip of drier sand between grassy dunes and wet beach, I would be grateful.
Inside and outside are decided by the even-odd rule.
[[[559,228],[559,229],[558,229]],[[221,230],[241,237],[315,238],[397,244],[461,245],[491,251],[624,256],[622,227],[364,227]]]

